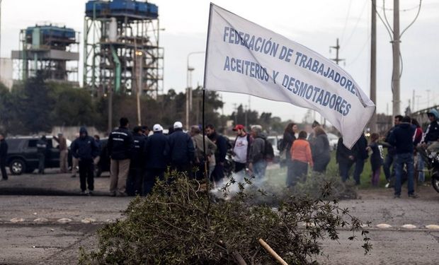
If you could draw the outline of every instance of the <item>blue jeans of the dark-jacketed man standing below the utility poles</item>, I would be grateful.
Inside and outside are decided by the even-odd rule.
[[[395,182],[395,195],[401,195],[401,178],[402,169],[404,164],[407,167],[407,188],[409,189],[409,194],[414,194],[414,163],[413,163],[413,153],[399,153],[395,155],[395,175],[397,177]]]

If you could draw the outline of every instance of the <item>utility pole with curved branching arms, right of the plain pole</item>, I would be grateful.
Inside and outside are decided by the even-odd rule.
[[[393,1],[393,73],[392,73],[392,91],[393,91],[393,116],[401,114],[399,100],[399,0]]]

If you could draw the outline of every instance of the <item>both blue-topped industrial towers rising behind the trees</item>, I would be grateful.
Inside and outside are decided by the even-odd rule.
[[[89,0],[84,33],[39,23],[21,30],[11,53],[13,79],[38,72],[46,80],[74,83],[101,97],[108,93],[156,95],[163,91],[164,49],[159,47],[159,9],[147,1]],[[79,42],[83,71],[79,72]],[[79,78],[81,74],[81,78]]]

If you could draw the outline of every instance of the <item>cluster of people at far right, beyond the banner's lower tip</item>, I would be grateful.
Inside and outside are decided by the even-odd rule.
[[[380,134],[372,133],[370,143],[367,143],[362,135],[353,148],[348,149],[343,145],[343,138],[339,139],[336,158],[342,180],[346,181],[349,178],[350,167],[355,163],[353,179],[356,184],[360,184],[360,174],[370,153],[373,186],[379,184],[383,167],[387,180],[385,187],[391,187],[391,183],[394,182],[394,198],[400,198],[401,183],[405,180],[408,196],[417,198],[414,180],[417,176],[418,182],[425,181],[424,164],[430,163],[431,156],[439,151],[439,112],[432,109],[427,115],[430,124],[425,132],[416,119],[397,115],[394,117],[394,126],[382,139],[384,141],[380,141]],[[384,148],[387,148],[385,158]]]

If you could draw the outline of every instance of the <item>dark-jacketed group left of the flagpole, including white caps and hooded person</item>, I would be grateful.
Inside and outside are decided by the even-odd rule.
[[[205,127],[204,139],[199,126],[192,126],[186,133],[181,122],[175,122],[168,135],[160,124],[154,124],[152,131],[149,135],[146,126],[135,126],[130,131],[128,119],[122,117],[118,129],[110,132],[110,196],[147,195],[157,178],[164,179],[168,167],[190,178],[200,179],[205,172],[213,182],[224,177],[227,139],[217,134],[212,124]],[[93,194],[93,165],[99,155],[96,139],[81,128],[71,151],[79,161],[81,194]]]

